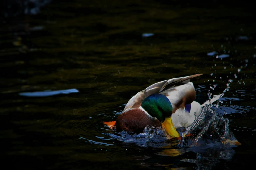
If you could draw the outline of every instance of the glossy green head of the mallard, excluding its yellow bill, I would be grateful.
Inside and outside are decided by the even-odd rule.
[[[145,98],[141,107],[152,117],[164,122],[165,118],[172,115],[172,105],[170,100],[162,94],[152,94]]]

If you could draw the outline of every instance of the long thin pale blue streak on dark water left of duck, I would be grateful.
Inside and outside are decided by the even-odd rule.
[[[47,97],[58,94],[69,94],[69,93],[77,93],[79,92],[77,89],[66,89],[66,90],[46,90],[46,91],[37,91],[37,92],[22,92],[19,93],[20,96],[26,97]]]

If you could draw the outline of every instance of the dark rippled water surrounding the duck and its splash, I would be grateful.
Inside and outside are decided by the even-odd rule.
[[[37,15],[2,18],[3,163],[26,170],[254,165],[255,30],[252,4],[222,1],[53,1]],[[197,73],[204,73],[192,80],[197,93],[226,91],[216,112],[240,146],[182,149],[107,135],[115,131],[103,122],[116,120],[131,96]],[[52,91],[19,95],[45,90]]]

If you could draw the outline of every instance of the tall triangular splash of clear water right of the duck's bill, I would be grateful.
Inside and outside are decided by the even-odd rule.
[[[210,94],[209,94],[210,96]],[[240,143],[229,129],[229,120],[218,116],[216,108],[205,105],[199,117],[182,134],[180,148],[202,146],[209,143],[218,143],[219,146],[237,146]]]

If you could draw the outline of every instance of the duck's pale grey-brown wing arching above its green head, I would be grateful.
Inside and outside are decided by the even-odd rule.
[[[164,81],[152,84],[145,90],[138,92],[135,96],[133,96],[126,104],[124,111],[131,109],[131,108],[139,108],[141,106],[142,101],[146,97],[148,97],[152,94],[156,94],[156,93],[170,94],[170,91],[175,91],[175,89],[173,89],[173,87],[175,87],[175,86],[179,87],[180,85],[185,85],[185,84],[189,83],[189,79],[195,78],[200,75],[202,75],[202,74],[196,74],[196,75],[180,77],[180,78],[172,78],[169,80],[164,80]],[[193,86],[193,84],[192,84],[192,86]],[[190,86],[188,86],[188,87],[190,87]],[[193,90],[194,90],[193,94],[189,94],[189,93],[191,93],[191,90],[189,90],[189,89],[184,89],[184,88],[181,88],[181,89],[183,89],[185,91],[185,94],[188,94],[188,98],[191,98],[190,96],[194,95],[194,93],[195,93],[194,86],[193,86]],[[179,91],[181,89],[179,89]],[[191,89],[191,87],[190,87],[190,89]],[[182,95],[182,96],[184,96],[184,95]],[[196,96],[196,94],[195,94],[195,96]],[[167,98],[168,98],[168,96],[167,96]],[[193,99],[193,101],[194,101],[194,99]],[[187,99],[187,101],[190,101],[190,100]],[[193,101],[191,101],[191,102],[193,102]],[[172,101],[171,101],[171,103],[172,103]]]

